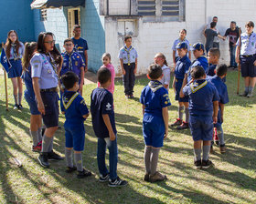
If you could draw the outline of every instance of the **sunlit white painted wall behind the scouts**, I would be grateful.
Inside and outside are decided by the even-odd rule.
[[[121,0],[112,0],[119,6]],[[123,4],[124,6],[125,4]],[[121,9],[115,10],[121,11]],[[125,6],[124,6],[125,7]],[[113,8],[112,8],[113,9]],[[157,52],[166,56],[167,62],[173,66],[172,45],[180,29],[187,29],[187,40],[191,45],[197,42],[205,44],[205,37],[202,34],[204,26],[210,23],[212,16],[219,17],[218,27],[220,35],[224,36],[229,28],[230,21],[236,21],[237,25],[244,31],[244,25],[249,20],[256,23],[256,1],[254,0],[187,0],[185,22],[146,23],[143,18],[138,20],[138,36],[133,37],[133,46],[138,51],[138,74],[144,74],[147,66],[153,63]],[[123,8],[123,13],[125,10]],[[123,17],[125,19],[125,17]],[[120,18],[119,18],[120,19]],[[117,20],[107,17],[105,21],[106,52],[112,55],[112,64],[116,72],[121,73],[118,53],[122,46],[117,36]],[[220,40],[220,63],[229,65],[229,44],[228,40]],[[193,55],[192,55],[193,56]],[[194,56],[192,57],[194,60]]]

